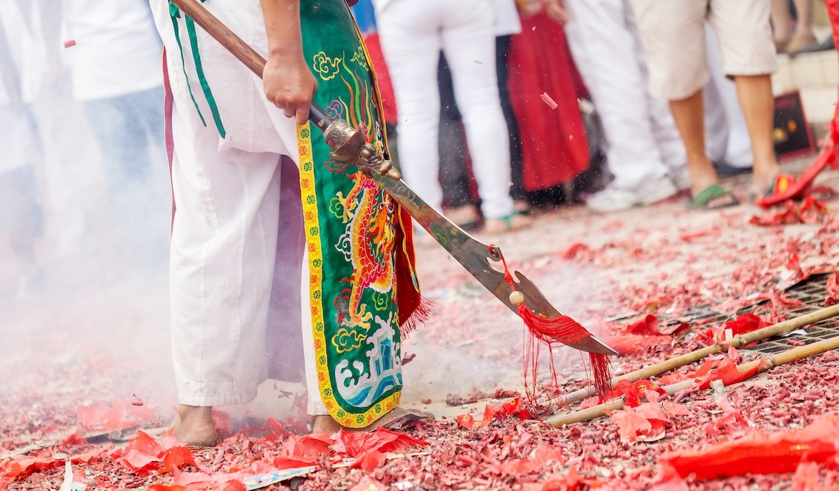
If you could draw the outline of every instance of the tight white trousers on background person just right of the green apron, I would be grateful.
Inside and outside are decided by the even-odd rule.
[[[405,181],[441,209],[437,63],[442,49],[466,127],[484,217],[511,214],[510,149],[498,99],[492,0],[391,0],[376,16],[399,111],[399,162]]]

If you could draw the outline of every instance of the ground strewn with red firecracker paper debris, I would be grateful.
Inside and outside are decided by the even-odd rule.
[[[726,184],[748,196],[748,176]],[[839,172],[816,184],[839,189]],[[697,211],[685,196],[618,214],[565,207],[540,214],[530,230],[478,238],[617,349],[620,375],[713,344],[726,328],[789,318],[800,304],[784,288],[810,275],[826,275],[824,305],[839,301],[839,199],[816,199],[770,210]],[[402,404],[438,419],[396,432],[310,436],[302,387],[268,382],[252,405],[218,408],[220,446],[183,447],[168,432],[176,397],[164,271],[9,304],[0,328],[0,489],[839,488],[836,352],[727,386],[657,390],[721,378],[709,375],[757,356],[729,349],[624,384],[623,410],[555,428],[526,404],[521,320],[439,246],[420,247],[418,263],[435,308],[404,343]],[[738,316],[756,302],[749,315],[757,318]],[[699,306],[735,324],[685,317]],[[543,363],[531,386],[543,401],[588,381],[576,350],[556,349],[553,359],[558,384]],[[302,475],[276,474],[284,469]]]

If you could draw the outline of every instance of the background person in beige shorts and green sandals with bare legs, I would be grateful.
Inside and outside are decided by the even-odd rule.
[[[738,203],[720,186],[705,148],[701,89],[711,79],[706,61],[706,21],[722,46],[724,73],[737,84],[752,142],[753,194],[773,193],[780,169],[772,141],[774,96],[770,74],[778,65],[769,24],[769,0],[633,0],[633,8],[649,64],[649,92],[670,101],[670,112],[685,143],[693,206],[711,209]]]

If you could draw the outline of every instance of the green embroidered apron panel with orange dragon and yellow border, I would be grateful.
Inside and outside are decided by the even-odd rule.
[[[378,90],[346,3],[301,2],[300,16],[315,102],[384,151]],[[320,132],[301,126],[298,141],[320,395],[343,426],[367,426],[399,404],[402,389],[394,264],[404,261],[394,259],[405,251],[404,228],[372,179],[331,162]]]

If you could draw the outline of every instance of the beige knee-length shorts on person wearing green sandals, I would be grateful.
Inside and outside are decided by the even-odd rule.
[[[632,0],[649,66],[649,92],[670,101],[710,79],[704,23],[717,33],[727,76],[769,75],[778,67],[770,0]]]

